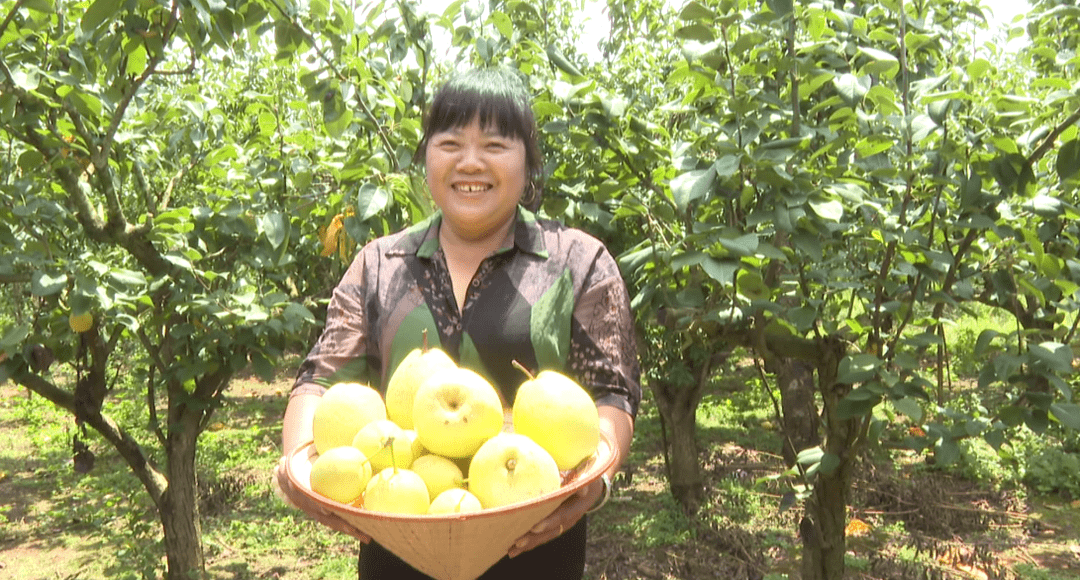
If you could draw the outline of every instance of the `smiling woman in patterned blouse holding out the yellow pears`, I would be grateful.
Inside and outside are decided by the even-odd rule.
[[[375,240],[335,288],[326,327],[300,366],[282,430],[292,451],[311,441],[323,389],[315,379],[379,386],[424,331],[458,364],[480,372],[512,402],[524,380],[512,366],[556,368],[596,401],[616,443],[605,477],[567,499],[518,539],[482,578],[580,579],[585,512],[602,503],[625,459],[640,402],[625,285],[604,245],[540,220],[542,160],[528,93],[516,75],[477,69],[435,95],[417,160],[438,207],[431,218]],[[340,518],[288,488],[287,500],[359,538],[364,580],[427,578]]]

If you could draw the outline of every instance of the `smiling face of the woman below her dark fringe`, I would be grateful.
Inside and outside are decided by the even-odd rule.
[[[462,241],[501,235],[525,191],[525,144],[469,124],[435,133],[426,150],[428,188],[443,224]],[[501,240],[498,240],[501,242]]]

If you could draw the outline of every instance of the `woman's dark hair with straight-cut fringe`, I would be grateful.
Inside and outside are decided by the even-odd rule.
[[[536,211],[543,187],[543,156],[528,91],[512,69],[475,68],[448,80],[435,93],[423,120],[423,137],[416,148],[414,161],[423,161],[432,135],[461,129],[474,119],[483,127],[494,127],[499,135],[525,144],[525,165],[529,174],[522,205]]]

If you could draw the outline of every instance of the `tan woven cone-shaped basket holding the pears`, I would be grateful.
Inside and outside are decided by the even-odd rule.
[[[397,515],[339,503],[311,490],[314,444],[297,449],[288,461],[288,478],[312,501],[437,580],[473,580],[499,562],[518,538],[550,515],[570,495],[598,478],[615,463],[605,433],[596,454],[571,472],[563,487],[528,501],[451,515]]]

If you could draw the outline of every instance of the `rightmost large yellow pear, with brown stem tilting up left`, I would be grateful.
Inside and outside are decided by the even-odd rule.
[[[562,373],[541,370],[523,382],[514,395],[512,414],[514,432],[539,443],[563,471],[596,453],[600,441],[596,403]]]

